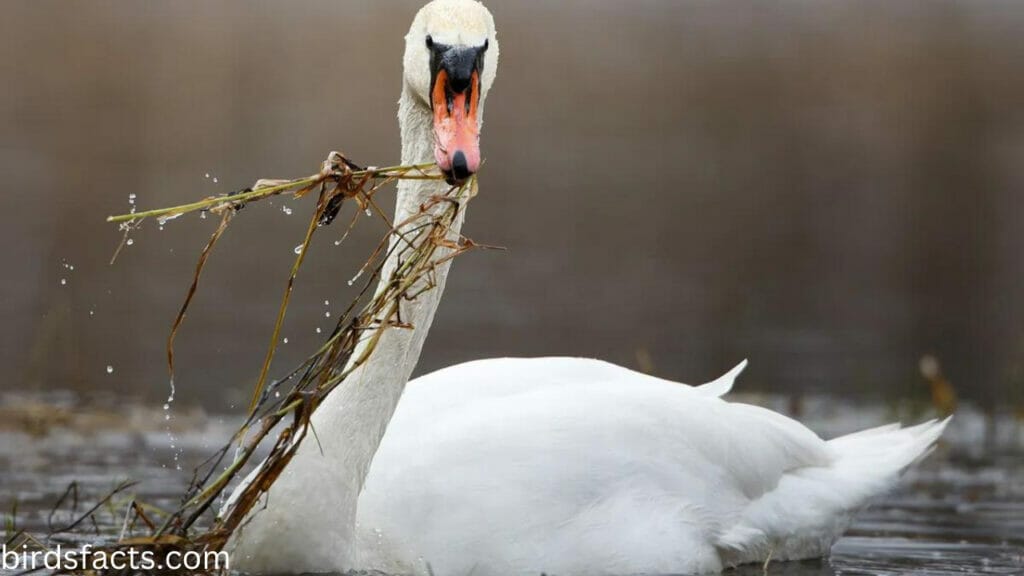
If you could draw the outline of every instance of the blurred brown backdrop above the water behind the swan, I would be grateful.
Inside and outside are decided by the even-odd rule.
[[[215,222],[147,222],[111,266],[104,216],[334,149],[397,160],[419,4],[0,3],[0,388],[162,400]],[[509,251],[457,262],[421,373],[577,355],[697,382],[750,358],[743,389],[925,398],[934,354],[962,396],[1024,402],[1024,3],[489,5],[502,63],[466,232]],[[244,402],[309,204],[247,209],[221,242],[179,402]],[[335,247],[341,229],[299,279],[278,373],[383,233]]]

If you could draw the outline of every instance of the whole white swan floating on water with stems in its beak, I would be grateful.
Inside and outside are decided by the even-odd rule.
[[[450,182],[476,172],[498,58],[476,0],[418,12],[398,106],[402,163],[436,161]],[[395,221],[445,190],[401,181]],[[825,441],[724,400],[745,362],[688,386],[597,360],[493,359],[407,386],[449,269],[402,303],[414,328],[386,330],[313,414],[316,441],[228,542],[233,569],[621,575],[820,557],[946,423]]]

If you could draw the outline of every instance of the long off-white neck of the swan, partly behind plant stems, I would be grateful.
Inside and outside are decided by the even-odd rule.
[[[433,130],[429,110],[425,109],[407,88],[399,101],[398,119],[401,126],[401,161],[403,164],[432,162]],[[438,180],[400,180],[397,191],[394,222],[397,224],[417,214],[421,205],[432,196],[444,194],[447,186]],[[452,224],[457,234],[462,227],[463,210]],[[392,242],[394,239],[392,238]],[[442,251],[434,259],[443,257]],[[398,264],[398,251],[384,262],[378,291],[388,282]],[[354,553],[356,501],[370,468],[374,453],[380,445],[384,430],[394,413],[406,382],[420,357],[420,349],[433,322],[434,312],[444,290],[451,260],[437,265],[431,280],[434,288],[419,293],[413,300],[400,302],[402,323],[409,328],[388,328],[381,334],[373,354],[336,388],[316,410],[312,417],[315,439],[302,445],[312,460],[326,466],[332,486],[312,487],[332,492],[334,509],[331,512],[340,550]],[[414,287],[411,293],[418,290]],[[386,320],[386,319],[378,319]],[[392,321],[394,319],[391,319]],[[364,334],[364,342],[371,334]],[[356,349],[353,358],[360,356]],[[321,455],[318,452],[323,452]],[[344,552],[342,552],[344,553]],[[354,559],[352,559],[354,560]]]

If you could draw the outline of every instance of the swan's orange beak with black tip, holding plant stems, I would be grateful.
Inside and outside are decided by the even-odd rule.
[[[461,85],[459,85],[461,84]],[[456,91],[462,88],[461,91]],[[461,184],[480,168],[480,74],[473,70],[469,82],[452,82],[439,70],[430,94],[434,113],[434,159],[449,183]]]

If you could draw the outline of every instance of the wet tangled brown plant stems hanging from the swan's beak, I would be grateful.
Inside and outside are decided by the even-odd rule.
[[[217,228],[199,255],[191,282],[167,339],[167,366],[173,381],[175,337],[185,320],[210,254],[239,211],[249,204],[272,196],[288,193],[300,199],[310,192],[316,192],[316,209],[310,217],[302,243],[295,249],[296,258],[278,308],[273,332],[253,389],[248,415],[233,437],[195,470],[178,508],[161,510],[133,498],[120,501],[117,496],[132,487],[132,484],[124,483],[92,508],[78,515],[73,522],[51,529],[46,538],[36,538],[10,526],[5,538],[8,547],[46,548],[48,542],[59,541],[61,537],[67,538],[76,531],[95,527],[94,515],[105,507],[121,510],[124,519],[120,523],[123,527],[121,534],[94,548],[90,557],[93,559],[92,566],[76,573],[130,573],[105,569],[105,564],[98,560],[103,554],[119,550],[151,550],[158,559],[171,551],[221,550],[260,496],[270,488],[295,455],[310,428],[309,419],[316,407],[349,373],[367,362],[385,330],[411,328],[397,317],[399,302],[415,299],[433,287],[434,266],[477,247],[468,238],[452,232],[452,224],[459,211],[475,196],[475,176],[468,182],[450,187],[446,193],[428,200],[417,214],[406,221],[392,222],[380,210],[375,196],[384,186],[403,178],[441,180],[443,176],[433,164],[361,168],[343,155],[332,152],[317,173],[304,178],[259,180],[252,188],[227,195],[154,210],[135,210],[133,206],[132,212],[128,214],[109,217],[108,221],[120,224],[124,232],[124,238],[118,247],[120,251],[125,245],[131,244],[129,234],[147,218],[166,222],[190,212],[220,216]],[[357,209],[347,224],[344,233],[346,236],[360,214],[376,213],[387,223],[389,232],[349,281],[351,285],[359,278],[365,278],[358,295],[338,317],[327,340],[284,377],[269,380],[276,346],[287,341],[282,337],[281,328],[310,242],[321,228],[335,220],[349,200],[356,204]],[[441,251],[438,252],[438,249]],[[392,253],[400,256],[401,263],[396,266],[389,281],[381,283],[381,288],[375,293],[373,287],[380,280],[383,263]],[[325,305],[328,303],[325,300]],[[327,312],[326,315],[330,317],[331,313]],[[356,343],[360,340],[366,344],[356,348]],[[353,357],[356,349],[358,356]],[[106,371],[113,372],[113,368],[109,366]],[[264,443],[269,446],[269,455],[255,472],[252,482],[232,498],[229,509],[216,516],[216,507],[223,501],[225,489]],[[71,496],[74,496],[76,502],[73,508],[75,511],[77,486],[69,488],[69,494],[57,502],[55,508],[66,504]],[[88,533],[95,536],[98,529]]]

